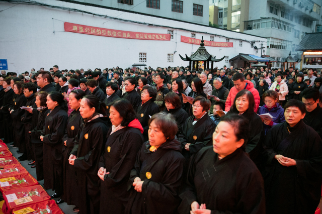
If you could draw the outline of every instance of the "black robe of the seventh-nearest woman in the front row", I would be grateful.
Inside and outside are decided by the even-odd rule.
[[[37,180],[44,179],[44,151],[43,151],[43,142],[39,139],[42,130],[45,126],[45,121],[47,115],[50,113],[49,109],[43,109],[38,113],[38,122],[37,127],[31,131],[31,143],[32,150],[34,152],[34,161],[36,165],[36,176]]]

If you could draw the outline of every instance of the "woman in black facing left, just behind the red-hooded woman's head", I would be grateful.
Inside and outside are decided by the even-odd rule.
[[[135,90],[136,84],[135,78],[126,77],[124,82],[126,92],[122,95],[122,98],[130,101],[135,112],[137,112],[137,108],[141,103],[141,97]]]

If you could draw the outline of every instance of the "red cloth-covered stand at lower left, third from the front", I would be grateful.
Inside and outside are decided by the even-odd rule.
[[[6,179],[9,177],[14,177],[15,180],[1,182],[2,179]],[[4,178],[0,178],[0,191],[4,192],[5,190],[21,188],[26,186],[34,186],[38,185],[38,181],[29,173],[18,174],[13,176],[8,176]]]

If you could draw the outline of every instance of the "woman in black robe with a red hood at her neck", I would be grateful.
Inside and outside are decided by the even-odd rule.
[[[124,213],[129,199],[127,182],[143,143],[143,128],[126,99],[118,99],[111,104],[110,119],[113,126],[107,133],[97,172],[102,180],[100,213],[120,214]]]

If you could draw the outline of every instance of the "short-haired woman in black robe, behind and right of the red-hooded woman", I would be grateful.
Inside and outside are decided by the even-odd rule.
[[[160,112],[157,104],[154,103],[156,97],[156,90],[148,85],[143,86],[141,91],[142,104],[139,105],[136,113],[136,117],[143,127],[143,138],[144,141],[148,140],[147,130],[148,122],[150,118]]]

